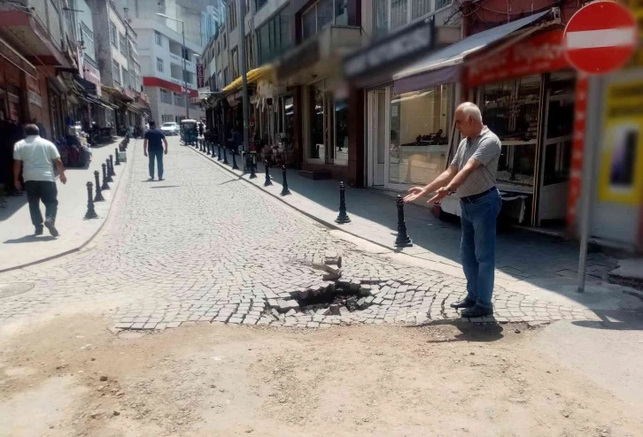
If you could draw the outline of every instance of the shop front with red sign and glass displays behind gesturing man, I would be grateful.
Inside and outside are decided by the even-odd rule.
[[[562,28],[469,59],[463,86],[502,143],[497,186],[505,212],[525,226],[564,229],[577,73]]]

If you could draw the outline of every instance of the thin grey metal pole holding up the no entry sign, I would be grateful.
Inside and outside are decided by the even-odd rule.
[[[596,156],[600,153],[600,128],[602,126],[602,78],[591,76],[587,92],[587,113],[585,114],[585,149],[583,179],[581,185],[580,254],[578,257],[578,293],[585,293],[585,272],[587,271],[587,246],[592,232],[592,215],[596,197]]]

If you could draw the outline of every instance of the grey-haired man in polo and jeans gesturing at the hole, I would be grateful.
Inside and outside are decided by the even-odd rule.
[[[480,109],[474,103],[458,106],[455,126],[465,138],[449,168],[426,187],[409,189],[404,201],[413,202],[427,193],[435,193],[428,203],[437,203],[453,194],[460,197],[460,254],[468,294],[451,306],[462,308],[462,317],[484,317],[493,313],[496,219],[501,206],[496,172],[501,145],[498,137],[484,126]]]

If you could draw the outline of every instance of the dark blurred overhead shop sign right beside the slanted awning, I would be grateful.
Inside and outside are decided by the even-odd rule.
[[[344,74],[353,79],[383,67],[407,62],[417,55],[432,50],[435,44],[433,19],[422,19],[413,26],[387,35],[373,42],[366,49],[349,55],[344,60]]]

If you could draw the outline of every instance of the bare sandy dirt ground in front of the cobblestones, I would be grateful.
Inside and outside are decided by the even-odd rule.
[[[1,342],[0,435],[643,435],[638,409],[515,326],[106,326]]]

